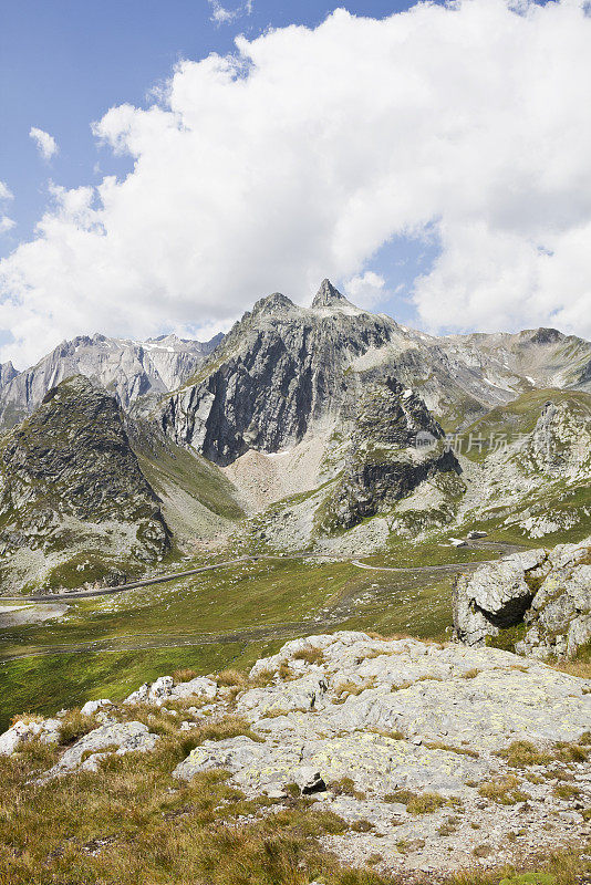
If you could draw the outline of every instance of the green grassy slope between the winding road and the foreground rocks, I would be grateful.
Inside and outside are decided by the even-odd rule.
[[[249,666],[276,650],[286,636],[301,635],[299,622],[310,624],[325,606],[336,610],[329,627],[321,620],[319,626],[310,624],[303,632],[346,627],[444,636],[452,622],[450,593],[449,575],[414,579],[362,571],[350,563],[286,560],[206,573],[112,598],[79,601],[63,622],[2,631],[0,728],[23,710],[49,714],[89,698],[122,698],[141,683],[180,666],[201,674],[229,665]],[[293,628],[283,631],[283,638],[274,638],[274,626],[286,622]],[[265,637],[249,635],[249,629],[260,627],[267,627]],[[224,637],[212,644],[182,645],[199,634],[232,631],[238,633],[235,642]],[[170,647],[126,649],[159,642]],[[62,654],[6,659],[60,646]]]

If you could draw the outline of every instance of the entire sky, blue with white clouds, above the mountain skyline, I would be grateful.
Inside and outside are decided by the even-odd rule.
[[[0,362],[324,277],[591,337],[590,46],[587,0],[2,0]]]

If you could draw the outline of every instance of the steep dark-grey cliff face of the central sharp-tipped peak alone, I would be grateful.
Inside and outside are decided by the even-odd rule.
[[[335,291],[335,290],[334,290]],[[245,314],[194,384],[173,395],[163,427],[227,465],[248,448],[277,451],[354,396],[351,361],[382,347],[396,323],[321,290],[315,308],[276,293]]]

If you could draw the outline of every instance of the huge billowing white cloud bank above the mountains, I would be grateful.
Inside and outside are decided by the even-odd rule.
[[[55,189],[0,264],[0,358],[210,329],[325,275],[375,294],[377,250],[431,231],[414,293],[429,329],[591,336],[590,43],[578,0],[457,0],[338,10],[180,63],[158,104],[96,124],[133,171]]]

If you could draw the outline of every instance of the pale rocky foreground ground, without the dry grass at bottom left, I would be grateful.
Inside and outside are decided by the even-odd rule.
[[[0,737],[0,753],[55,748],[34,775],[43,802],[56,779],[101,775],[129,753],[137,766],[144,756],[162,764],[170,741],[180,753],[165,773],[170,796],[227,772],[259,803],[249,823],[308,796],[330,812],[320,845],[382,875],[427,882],[466,867],[527,868],[591,835],[591,680],[492,648],[309,636],[248,678],[180,674],[120,705],[24,717]],[[134,800],[118,801],[125,814]],[[191,806],[175,814],[182,826]]]

